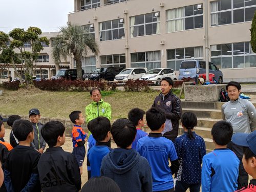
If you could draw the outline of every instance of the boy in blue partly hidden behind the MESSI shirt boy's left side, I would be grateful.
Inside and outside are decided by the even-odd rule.
[[[140,138],[145,137],[145,136],[148,135],[146,132],[143,132],[141,130],[141,128],[145,124],[144,115],[145,115],[145,112],[143,110],[139,109],[139,108],[134,108],[128,113],[128,119],[134,123],[134,125],[136,126],[136,130],[137,130],[136,137],[135,137],[135,139],[133,141],[133,144],[132,144],[132,148],[134,150],[136,150],[138,140]]]

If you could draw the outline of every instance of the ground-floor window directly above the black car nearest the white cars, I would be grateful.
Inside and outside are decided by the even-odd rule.
[[[101,67],[125,67],[125,54],[100,56]]]

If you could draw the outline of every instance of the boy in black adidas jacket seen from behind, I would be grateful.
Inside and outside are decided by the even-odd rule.
[[[81,177],[76,158],[61,148],[66,140],[65,126],[59,121],[50,121],[42,127],[41,134],[49,145],[38,162],[42,191],[79,191]]]

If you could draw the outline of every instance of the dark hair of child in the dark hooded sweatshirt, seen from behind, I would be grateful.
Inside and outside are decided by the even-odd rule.
[[[137,130],[136,126],[129,119],[117,119],[111,127],[113,140],[117,146],[126,148],[132,144]]]

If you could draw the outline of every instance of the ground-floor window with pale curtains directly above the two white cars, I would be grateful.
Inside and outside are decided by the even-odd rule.
[[[131,53],[132,68],[147,68],[148,70],[161,68],[160,51]]]

